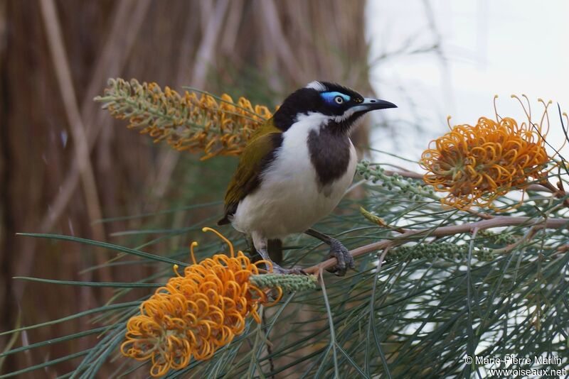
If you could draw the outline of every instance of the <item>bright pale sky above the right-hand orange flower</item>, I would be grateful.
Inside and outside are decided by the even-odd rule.
[[[398,127],[374,131],[373,147],[417,159],[432,138],[448,130],[447,115],[453,125],[493,118],[494,94],[499,114],[519,121],[523,111],[511,94],[533,100],[533,114],[543,109],[538,97],[553,100],[547,140],[563,141],[556,102],[569,112],[569,1],[368,0],[366,14],[373,87],[399,106],[385,112]],[[400,50],[407,41],[409,51],[437,40],[446,59],[403,53],[374,64],[378,55]],[[569,155],[569,147],[563,153]]]

